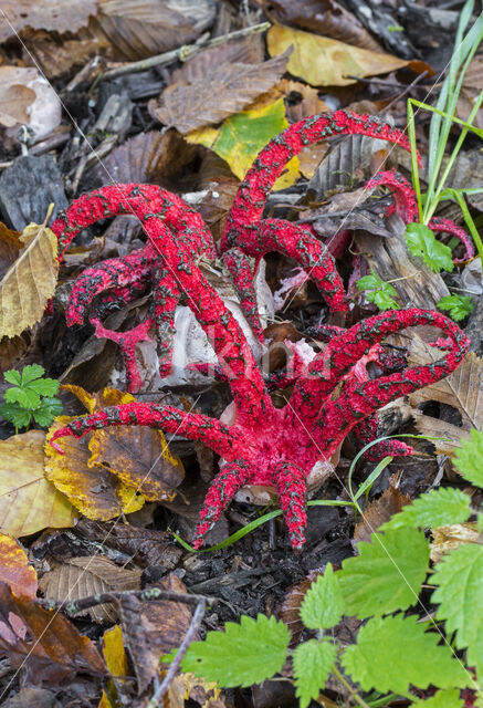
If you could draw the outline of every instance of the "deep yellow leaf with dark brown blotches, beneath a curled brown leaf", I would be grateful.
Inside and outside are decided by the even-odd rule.
[[[74,419],[75,416],[55,418],[46,440],[50,440],[55,430]],[[108,521],[122,513],[137,511],[144,504],[143,496],[138,496],[135,489],[123,485],[101,465],[88,467],[91,436],[92,434],[81,439],[64,438],[62,447],[65,455],[54,450],[51,445],[45,445],[45,477],[87,519]]]

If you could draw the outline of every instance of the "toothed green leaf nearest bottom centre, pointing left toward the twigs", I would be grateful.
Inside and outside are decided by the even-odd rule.
[[[287,626],[274,616],[243,615],[240,624],[227,622],[224,632],[190,644],[181,667],[225,688],[261,684],[282,669],[288,642]]]

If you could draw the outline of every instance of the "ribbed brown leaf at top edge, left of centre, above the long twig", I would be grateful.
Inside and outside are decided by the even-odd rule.
[[[192,42],[214,11],[212,0],[106,0],[90,30],[125,59],[145,59]]]

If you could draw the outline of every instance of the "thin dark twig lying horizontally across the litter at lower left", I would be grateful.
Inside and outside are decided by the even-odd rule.
[[[88,595],[86,597],[80,597],[78,600],[71,600],[65,602],[65,600],[42,600],[39,598],[38,602],[45,610],[62,610],[65,614],[73,616],[83,612],[84,610],[88,610],[90,607],[95,607],[96,605],[102,605],[108,602],[119,602],[123,597],[137,597],[143,602],[147,601],[156,601],[156,600],[167,600],[169,602],[181,602],[186,605],[199,605],[201,602],[207,604],[214,604],[217,602],[217,597],[206,597],[204,595],[190,595],[188,593],[176,593],[170,590],[161,590],[160,587],[149,587],[148,590],[126,590],[117,593],[97,593],[96,595]]]

